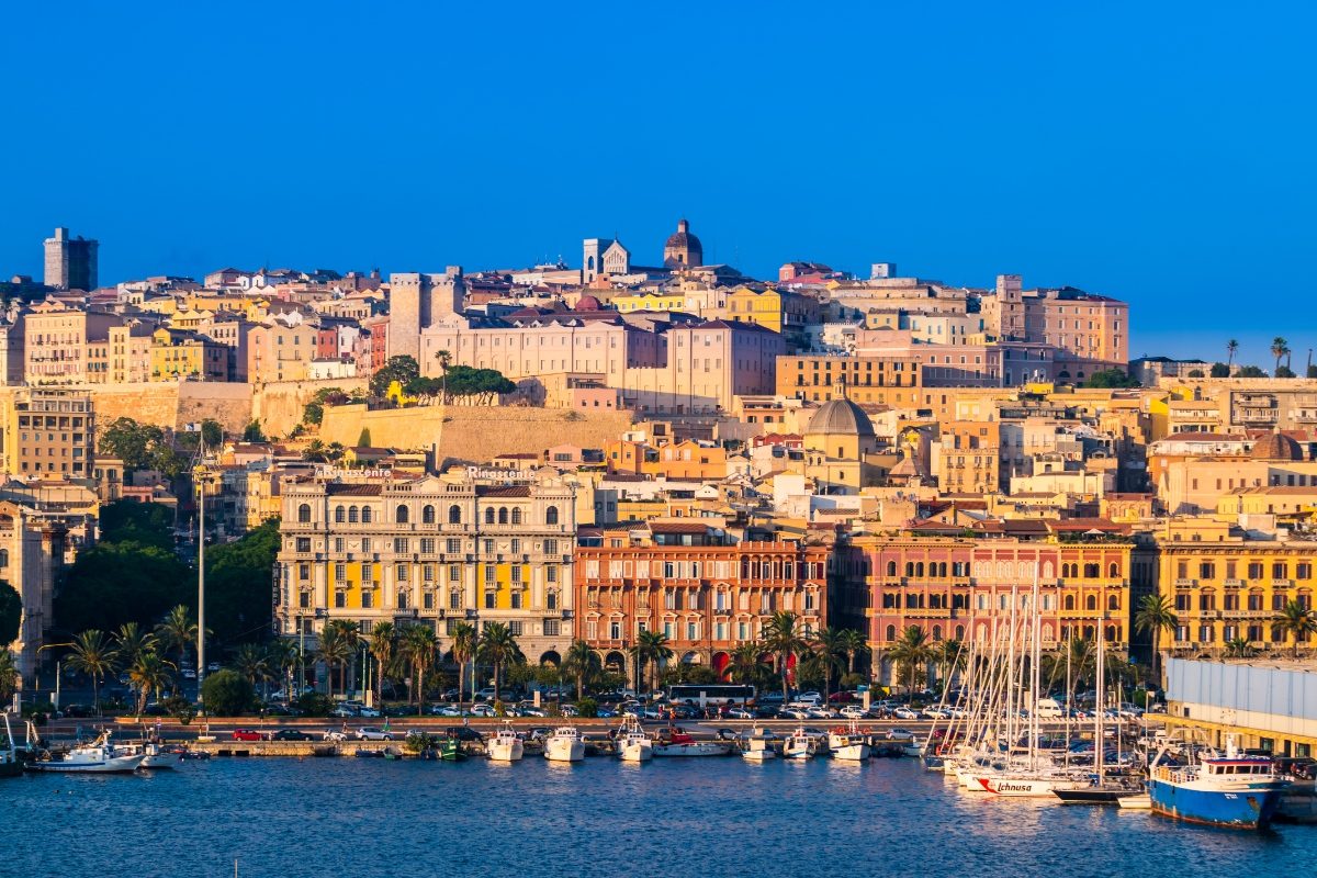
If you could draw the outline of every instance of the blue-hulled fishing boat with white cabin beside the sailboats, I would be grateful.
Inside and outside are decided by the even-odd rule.
[[[1280,806],[1285,783],[1276,778],[1271,760],[1241,756],[1233,736],[1225,756],[1205,756],[1196,765],[1158,765],[1163,756],[1164,749],[1148,777],[1154,813],[1210,827],[1263,829]]]

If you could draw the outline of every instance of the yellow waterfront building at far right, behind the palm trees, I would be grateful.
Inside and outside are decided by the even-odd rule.
[[[1280,650],[1293,637],[1275,625],[1289,602],[1312,609],[1317,541],[1251,538],[1217,519],[1172,519],[1158,537],[1159,588],[1177,624],[1159,649],[1223,654],[1231,641]],[[1312,650],[1312,638],[1299,648]]]

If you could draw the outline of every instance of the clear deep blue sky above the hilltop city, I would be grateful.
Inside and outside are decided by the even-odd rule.
[[[1312,4],[37,4],[3,13],[0,274],[528,265],[618,234],[1134,304],[1296,365]]]

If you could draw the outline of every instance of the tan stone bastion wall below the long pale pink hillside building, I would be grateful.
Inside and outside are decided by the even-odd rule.
[[[540,454],[554,445],[603,448],[631,426],[631,412],[576,412],[519,405],[421,405],[367,411],[365,405],[325,409],[319,437],[327,445],[356,445],[362,429],[377,448],[439,446],[439,463],[485,462],[497,454]]]

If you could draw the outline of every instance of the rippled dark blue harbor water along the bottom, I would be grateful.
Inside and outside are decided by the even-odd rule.
[[[913,760],[221,758],[0,782],[0,875],[1312,874],[1270,833],[992,799]]]

